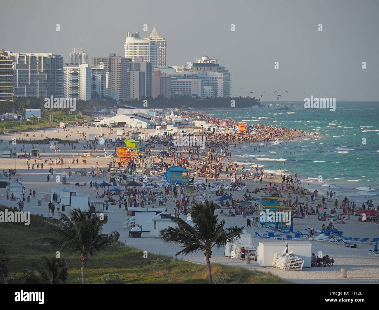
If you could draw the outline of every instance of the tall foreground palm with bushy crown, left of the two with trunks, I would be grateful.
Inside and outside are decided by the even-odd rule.
[[[74,208],[70,212],[70,218],[61,214],[60,219],[53,220],[55,227],[49,229],[49,237],[39,238],[53,246],[58,246],[62,251],[80,254],[81,283],[86,284],[85,269],[88,257],[102,251],[109,244],[115,243],[120,234],[116,230],[110,234],[102,233],[103,225],[108,221],[105,214],[100,219],[92,211],[81,211]]]

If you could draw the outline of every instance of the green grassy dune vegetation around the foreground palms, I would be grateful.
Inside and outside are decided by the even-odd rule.
[[[0,210],[4,211],[4,207],[0,206]],[[56,251],[59,251],[58,247],[37,244],[39,238],[47,236],[50,227],[50,219],[41,215],[31,215],[30,225],[1,223],[1,243],[6,244],[3,247],[6,255],[9,256],[9,262],[6,263],[9,274],[6,283],[23,283],[23,269],[38,273],[34,266],[36,263],[41,263],[42,256],[55,257]],[[99,252],[97,258],[88,258],[86,283],[208,283],[208,271],[204,265],[169,260],[167,257],[151,253],[148,254],[148,258],[143,258],[143,256],[142,250],[128,247],[107,247],[104,251]],[[61,251],[60,257],[66,260],[69,268],[68,283],[82,283],[78,255]],[[162,263],[163,266],[157,267],[157,263]],[[212,264],[212,273],[214,283],[233,283],[233,281],[229,282],[229,278],[238,283],[291,283],[269,272],[250,271],[243,267],[229,267],[220,264]]]

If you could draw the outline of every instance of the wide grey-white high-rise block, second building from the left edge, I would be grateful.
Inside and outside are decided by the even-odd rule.
[[[63,57],[52,53],[7,52],[15,63],[13,97],[63,97]]]

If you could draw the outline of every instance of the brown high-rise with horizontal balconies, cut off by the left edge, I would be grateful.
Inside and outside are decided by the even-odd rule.
[[[13,101],[13,60],[0,50],[0,101]]]

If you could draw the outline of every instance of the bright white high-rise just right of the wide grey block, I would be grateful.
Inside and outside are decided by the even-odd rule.
[[[65,64],[64,97],[91,100],[91,68],[88,64]]]

